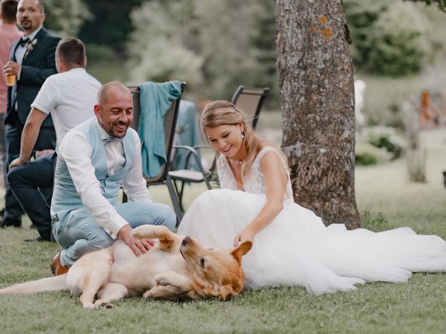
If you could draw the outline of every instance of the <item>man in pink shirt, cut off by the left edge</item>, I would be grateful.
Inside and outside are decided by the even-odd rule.
[[[15,15],[17,14],[17,0],[0,1],[0,66],[3,66],[9,60],[10,48],[15,40],[22,37],[22,31],[17,29]],[[15,77],[10,75],[0,75],[0,182],[6,184],[6,143],[5,127],[3,125],[3,115],[6,111],[6,85],[13,86]]]

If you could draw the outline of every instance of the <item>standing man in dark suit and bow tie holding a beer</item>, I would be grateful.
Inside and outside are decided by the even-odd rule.
[[[6,166],[20,155],[22,129],[31,110],[31,103],[47,77],[55,74],[54,51],[60,38],[48,33],[42,26],[45,11],[42,0],[20,0],[17,6],[17,24],[24,31],[20,40],[11,46],[10,61],[3,67],[5,74],[14,74],[15,86],[8,89],[8,104],[5,115]],[[48,116],[40,129],[33,152],[47,152],[56,146],[56,133],[51,116]],[[43,196],[50,198],[49,189],[40,189]],[[1,226],[22,225],[22,207],[6,184],[6,200]],[[41,235],[38,241],[49,240],[49,235]],[[31,240],[30,240],[31,241]]]

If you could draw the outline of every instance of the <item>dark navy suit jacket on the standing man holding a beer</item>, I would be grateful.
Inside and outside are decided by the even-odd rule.
[[[35,44],[31,45],[32,49],[29,47],[23,58],[20,80],[14,87],[8,88],[5,124],[17,125],[18,120],[23,126],[31,110],[31,103],[36,98],[43,82],[47,77],[57,72],[54,52],[60,38],[42,28],[33,39],[33,41],[35,40]],[[19,41],[17,40],[11,45],[11,61],[16,61],[15,50]],[[17,111],[15,111],[16,101]],[[42,126],[54,127],[51,116],[45,118]]]

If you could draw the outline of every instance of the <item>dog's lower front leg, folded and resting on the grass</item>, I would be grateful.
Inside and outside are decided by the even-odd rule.
[[[192,281],[174,271],[159,273],[153,278],[156,286],[143,294],[144,298],[176,300],[192,289]]]

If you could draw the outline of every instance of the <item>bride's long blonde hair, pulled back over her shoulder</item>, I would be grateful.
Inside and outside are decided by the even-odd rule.
[[[251,120],[249,124],[247,123],[245,113],[238,109],[237,106],[231,104],[228,101],[214,101],[207,104],[201,115],[200,127],[203,134],[206,136],[205,129],[206,127],[218,127],[220,125],[238,125],[239,123],[243,124],[243,129],[245,131],[245,138],[243,139],[243,146],[246,152],[246,159],[242,164],[242,177],[244,178],[247,172],[251,169],[252,162],[256,158],[256,155],[262,148],[266,145],[273,146],[265,141],[256,134],[254,134],[254,130],[252,129]],[[206,136],[206,140],[208,137]],[[208,140],[209,143],[209,140]],[[209,143],[210,144],[210,143]],[[212,146],[212,145],[211,145]],[[277,149],[276,149],[277,150]],[[277,150],[279,154],[284,157],[281,150]],[[216,152],[217,153],[217,152]],[[218,153],[217,153],[218,154]],[[285,157],[284,157],[285,158]],[[286,164],[286,158],[284,159]]]

